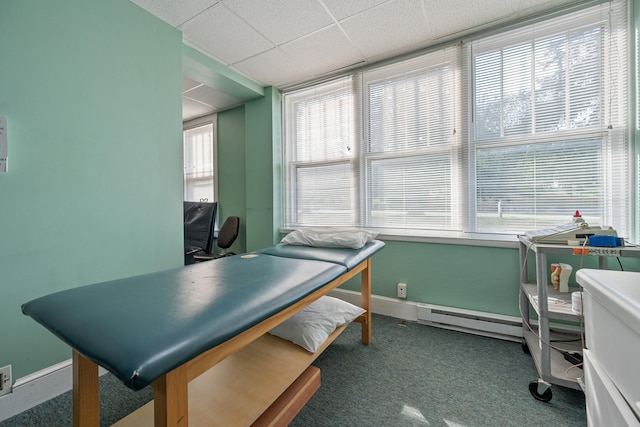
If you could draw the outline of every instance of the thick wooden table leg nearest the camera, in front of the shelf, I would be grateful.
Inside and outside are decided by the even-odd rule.
[[[186,364],[161,376],[151,386],[155,427],[187,427],[189,382]]]

